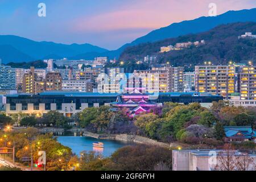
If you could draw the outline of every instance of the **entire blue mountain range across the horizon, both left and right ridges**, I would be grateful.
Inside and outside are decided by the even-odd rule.
[[[154,30],[114,51],[91,44],[67,45],[53,42],[35,42],[14,35],[0,35],[0,57],[3,63],[50,58],[60,59],[63,57],[68,57],[68,59],[93,59],[97,56],[109,56],[110,59],[113,59],[114,57],[118,58],[126,48],[131,46],[187,34],[196,34],[208,31],[221,24],[235,22],[256,22],[256,9],[228,11],[218,16],[203,16],[194,20],[172,23],[170,26]]]

